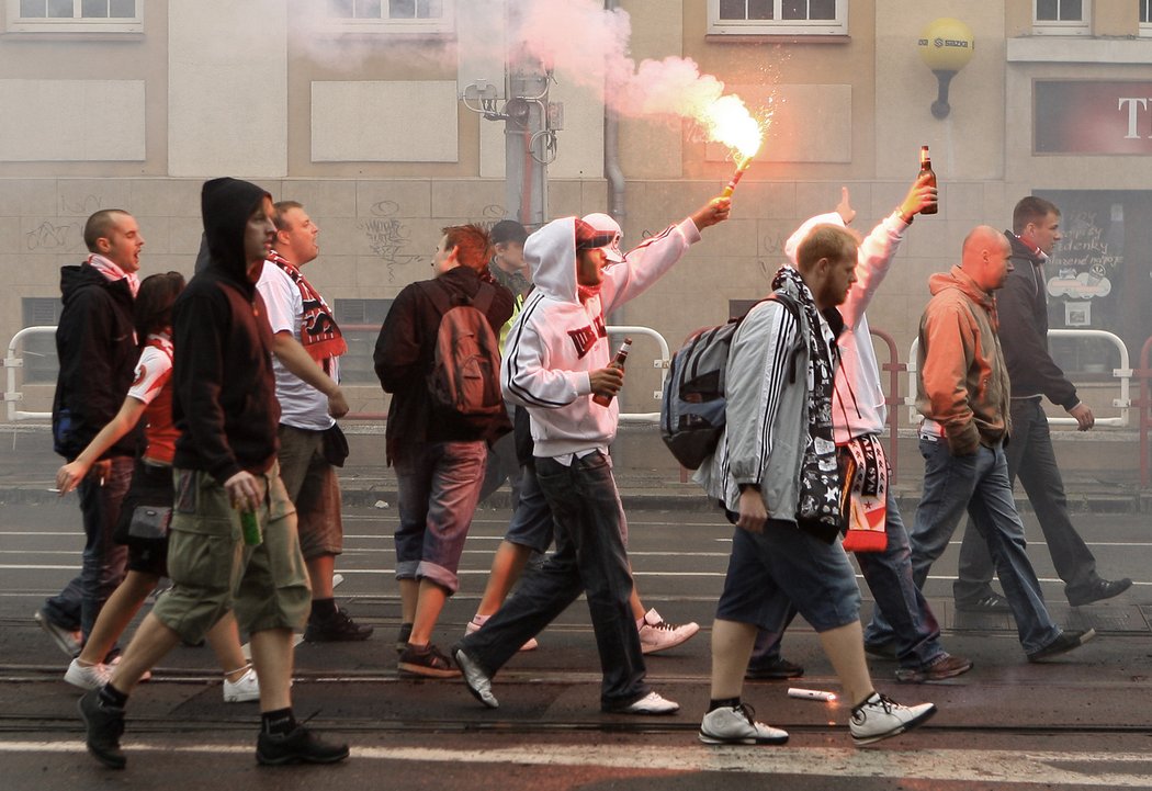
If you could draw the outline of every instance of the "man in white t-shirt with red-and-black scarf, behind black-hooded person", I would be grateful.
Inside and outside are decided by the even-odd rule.
[[[280,402],[280,479],[296,505],[300,548],[312,587],[304,630],[310,642],[366,640],[362,626],[336,607],[333,573],[343,552],[340,481],[327,450],[342,447],[335,418],[348,412],[340,389],[340,356],[348,351],[332,309],[301,272],[316,260],[320,229],[294,200],[274,205],[275,249],[256,284],[272,326],[272,370]]]

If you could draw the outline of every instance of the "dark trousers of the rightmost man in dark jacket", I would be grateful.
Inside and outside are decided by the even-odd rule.
[[[1040,396],[1011,400],[1011,441],[1005,448],[1008,480],[1024,486],[1052,563],[1064,580],[1064,593],[1087,588],[1099,577],[1096,557],[1068,516],[1064,482],[1052,449],[1052,433]],[[960,546],[960,579],[953,585],[956,601],[977,601],[992,593],[992,557],[969,523]]]

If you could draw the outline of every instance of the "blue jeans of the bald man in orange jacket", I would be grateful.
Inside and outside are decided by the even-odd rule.
[[[942,438],[922,436],[920,455],[924,494],[910,537],[916,586],[924,588],[929,570],[948,547],[967,510],[995,562],[1021,645],[1029,654],[1044,648],[1060,636],[1060,628],[1044,606],[1040,583],[1025,553],[1024,524],[1011,497],[1003,447],[982,444],[970,456],[953,456]],[[894,639],[884,614],[872,617],[865,639]]]

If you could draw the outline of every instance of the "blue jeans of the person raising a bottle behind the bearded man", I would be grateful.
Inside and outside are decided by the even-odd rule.
[[[911,546],[892,487],[888,488],[887,509],[885,523],[885,532],[888,534],[887,548],[884,552],[856,553],[856,562],[859,563],[864,580],[872,591],[877,609],[882,611],[892,624],[900,665],[920,668],[945,653],[940,647],[940,624],[920,588],[912,581]],[[787,622],[791,622],[795,614],[796,608],[791,607]],[[757,636],[750,667],[755,668],[758,662],[779,659],[781,637],[782,634],[774,632],[761,632]]]

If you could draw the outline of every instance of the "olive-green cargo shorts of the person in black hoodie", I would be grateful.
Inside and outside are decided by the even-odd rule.
[[[257,510],[263,541],[255,547],[244,545],[240,514],[211,474],[175,469],[173,480],[173,586],[152,613],[185,642],[202,640],[229,609],[248,632],[302,629],[312,593],[278,465],[257,476],[265,496]]]

